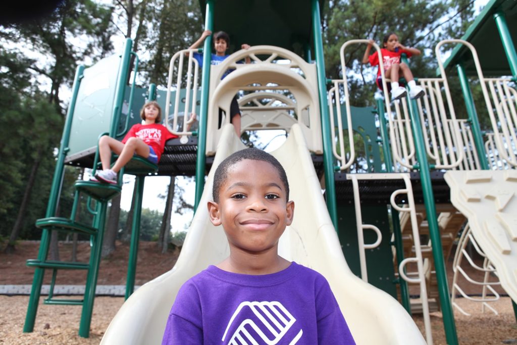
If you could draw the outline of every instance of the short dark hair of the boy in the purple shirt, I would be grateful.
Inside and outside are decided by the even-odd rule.
[[[282,181],[285,188],[286,200],[289,200],[289,183],[287,182],[287,175],[282,167],[282,164],[273,156],[257,148],[245,148],[226,157],[216,169],[214,174],[214,186],[212,186],[212,196],[215,202],[219,202],[219,190],[226,181],[228,170],[241,160],[251,159],[263,161],[271,164],[273,168],[278,171],[280,181]]]

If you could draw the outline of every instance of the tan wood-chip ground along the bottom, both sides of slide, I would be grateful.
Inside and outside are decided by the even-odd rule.
[[[0,296],[0,344],[98,344],[123,297],[97,297],[90,337],[78,335],[81,307],[49,306],[40,304],[34,332],[23,333],[28,296]],[[517,324],[511,301],[503,297],[492,306],[499,312],[481,312],[474,302],[458,299],[458,304],[472,316],[455,312],[460,344],[517,344]],[[421,316],[414,320],[423,332]],[[443,321],[439,312],[431,317],[434,344],[446,344]]]

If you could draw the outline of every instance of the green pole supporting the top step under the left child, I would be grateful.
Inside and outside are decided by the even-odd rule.
[[[136,258],[138,256],[138,242],[140,237],[140,216],[142,214],[142,199],[144,196],[145,175],[137,175],[136,200],[134,201],[133,224],[131,227],[131,245],[129,247],[128,276],[126,279],[126,299],[134,291],[134,279],[136,272]]]

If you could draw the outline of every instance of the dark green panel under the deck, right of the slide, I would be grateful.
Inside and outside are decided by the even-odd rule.
[[[368,282],[389,293],[397,299],[397,288],[394,284],[395,273],[391,252],[389,218],[386,205],[362,205],[364,224],[373,224],[381,230],[383,239],[377,248],[366,250]],[[361,277],[359,248],[357,246],[357,230],[353,204],[338,203],[339,241],[348,267]],[[377,239],[373,230],[364,230],[364,243],[371,244]]]

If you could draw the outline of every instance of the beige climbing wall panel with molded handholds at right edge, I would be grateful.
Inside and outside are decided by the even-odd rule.
[[[497,269],[501,286],[517,301],[517,171],[448,171],[451,202]]]

